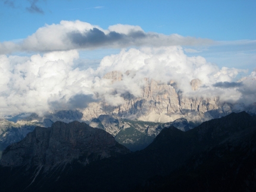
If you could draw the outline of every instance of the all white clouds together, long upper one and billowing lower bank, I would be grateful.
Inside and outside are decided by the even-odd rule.
[[[139,26],[122,24],[107,30],[82,21],[46,25],[20,42],[0,43],[0,116],[84,109],[98,101],[118,106],[125,102],[124,95],[141,96],[145,78],[174,81],[177,91],[182,90],[185,96],[254,103],[255,70],[236,81],[246,70],[219,68],[202,56],[186,55],[195,50],[182,47],[211,42],[178,34],[145,33]],[[105,56],[94,70],[85,67],[88,63],[80,59],[79,51],[98,48],[121,51]],[[40,54],[7,55],[13,52]],[[122,80],[104,78],[112,71]],[[191,81],[196,79],[201,84],[192,90]]]

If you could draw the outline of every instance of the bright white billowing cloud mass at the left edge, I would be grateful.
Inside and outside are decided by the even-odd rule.
[[[0,56],[1,113],[45,112],[49,111],[49,100],[65,98],[69,100],[75,92],[86,92],[85,86],[72,86],[77,71],[72,71],[77,51],[51,52],[43,56]],[[71,89],[66,89],[70,86]],[[84,87],[84,89],[83,89]],[[70,93],[70,94],[68,94]]]

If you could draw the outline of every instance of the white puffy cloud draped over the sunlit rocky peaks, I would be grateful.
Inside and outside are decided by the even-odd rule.
[[[177,89],[182,90],[186,96],[218,96],[229,102],[243,98],[243,93],[238,88],[242,88],[244,84],[234,80],[238,74],[246,73],[246,70],[236,68],[218,68],[202,56],[189,57],[181,46],[129,49],[105,56],[95,73],[103,77],[110,71],[133,73],[132,78],[124,75],[121,83],[114,84],[119,94],[129,90],[129,93],[138,96],[145,82],[143,79],[151,78],[160,83],[176,81]],[[191,88],[190,82],[193,79],[199,79],[202,83],[196,91]],[[135,84],[136,86],[130,86]]]

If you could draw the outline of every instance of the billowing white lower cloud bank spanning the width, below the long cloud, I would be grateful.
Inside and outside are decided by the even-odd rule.
[[[122,95],[141,96],[145,77],[162,83],[176,81],[188,96],[219,96],[230,102],[253,103],[256,100],[256,71],[233,82],[236,68],[218,68],[201,56],[187,56],[181,46],[123,49],[105,56],[96,70],[75,68],[79,52],[58,51],[27,56],[0,56],[1,117],[21,112],[43,114],[61,109],[82,109],[90,102],[104,101],[118,106]],[[122,81],[102,78],[119,71]],[[127,73],[127,71],[129,73]],[[202,85],[191,89],[191,80]]]

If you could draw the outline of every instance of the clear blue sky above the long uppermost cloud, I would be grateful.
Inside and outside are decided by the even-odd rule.
[[[256,1],[0,2],[1,42],[25,38],[39,27],[61,20],[81,20],[104,29],[118,23],[138,25],[145,32],[177,33],[213,40],[256,39]]]

